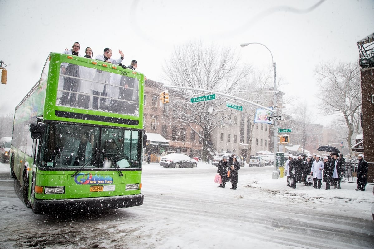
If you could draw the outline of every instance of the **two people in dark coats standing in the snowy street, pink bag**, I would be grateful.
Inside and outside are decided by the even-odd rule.
[[[227,182],[231,182],[231,188],[236,190],[237,180],[238,180],[238,170],[240,169],[240,164],[237,161],[237,156],[235,153],[229,157],[224,155],[222,160],[218,163],[217,173],[221,176],[221,184],[218,188],[225,188]]]

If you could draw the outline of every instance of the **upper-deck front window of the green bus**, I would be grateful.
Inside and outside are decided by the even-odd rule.
[[[139,80],[126,75],[62,62],[56,106],[139,116]]]

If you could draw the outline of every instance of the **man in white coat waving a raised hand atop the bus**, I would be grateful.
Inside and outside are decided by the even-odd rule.
[[[119,63],[121,63],[122,60],[123,60],[123,53],[122,53],[121,50],[118,50],[118,52],[120,53],[121,57],[119,59],[116,59],[116,60],[111,59],[112,50],[110,48],[106,47],[104,49],[104,55],[97,55],[95,59],[119,65]],[[95,81],[99,81],[99,82],[102,82],[102,83],[105,83],[105,84],[110,83],[110,74],[105,74],[105,72],[99,71],[96,75],[97,75],[97,77],[95,77]],[[107,93],[105,92],[105,88],[106,88],[105,84],[100,84],[100,83],[96,83],[96,82],[92,83],[92,85],[91,85],[92,94],[97,95],[97,96],[101,95],[103,97],[106,97]],[[99,100],[99,97],[92,97],[92,108],[95,109],[95,110],[99,109],[98,100]],[[104,110],[105,101],[106,101],[105,98],[100,99],[100,109],[101,110]]]

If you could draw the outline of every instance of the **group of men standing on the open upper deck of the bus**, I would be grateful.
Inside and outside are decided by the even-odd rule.
[[[80,51],[80,44],[79,42],[75,42],[71,49],[65,49],[63,53],[68,54],[68,55],[80,56],[79,51]],[[123,65],[122,61],[124,59],[124,55],[121,50],[118,50],[118,52],[120,54],[120,57],[118,59],[112,59],[112,50],[106,47],[104,49],[104,53],[101,55],[97,55],[95,59],[122,66],[124,69],[126,68],[129,68],[132,70],[138,69],[137,60],[132,60],[131,65],[127,67]],[[87,58],[93,57],[93,51],[91,47],[86,47],[85,53],[86,55],[84,57],[87,57]],[[135,94],[135,98],[137,97],[136,93],[132,91],[131,93],[129,93],[131,96],[125,96],[126,89],[128,88],[137,89],[137,84],[130,82],[131,80],[135,80],[135,79],[130,78],[130,77],[122,77],[121,75],[111,76],[109,73],[106,73],[101,70],[96,71],[96,70],[92,70],[91,68],[79,67],[78,65],[66,63],[66,62],[61,63],[61,75],[68,75],[68,77],[64,77],[64,82],[62,85],[63,91],[62,91],[62,96],[60,100],[61,105],[70,105],[70,106],[88,108],[89,102],[90,102],[90,95],[92,95],[92,109],[98,110],[100,108],[103,110],[103,106],[110,105],[110,108],[113,109],[110,111],[116,112],[117,110],[115,110],[114,105],[117,104],[117,102],[110,101],[110,99],[113,99],[113,98],[114,99],[126,99],[126,100],[130,100],[131,102],[132,100],[134,100],[134,96],[133,96],[134,94]],[[84,78],[86,80],[80,80],[79,79],[80,76],[82,76],[81,78]],[[115,77],[117,77],[118,79],[117,78],[114,79]],[[83,81],[83,82],[80,82],[80,81]],[[87,86],[85,86],[86,85],[85,83],[87,83]],[[88,88],[88,89],[82,90],[81,88]],[[113,88],[113,89],[108,89],[108,88]],[[108,96],[108,92],[110,91],[114,91],[115,93],[113,95],[115,96]],[[80,94],[79,94],[79,97],[77,98],[78,92]]]

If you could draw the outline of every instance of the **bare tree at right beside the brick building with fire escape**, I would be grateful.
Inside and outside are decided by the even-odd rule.
[[[318,80],[319,108],[337,114],[337,123],[348,128],[347,144],[352,147],[353,133],[360,133],[361,81],[358,63],[326,63],[315,69]]]

